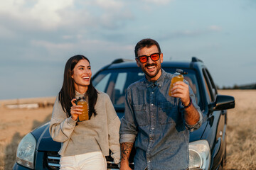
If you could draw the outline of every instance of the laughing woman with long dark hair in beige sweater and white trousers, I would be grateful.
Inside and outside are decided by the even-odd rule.
[[[63,86],[50,120],[50,135],[61,142],[60,169],[107,169],[109,149],[119,163],[120,120],[110,97],[92,86],[91,77],[87,57],[75,55],[65,64]],[[82,110],[76,98],[87,101],[89,120],[78,120]]]

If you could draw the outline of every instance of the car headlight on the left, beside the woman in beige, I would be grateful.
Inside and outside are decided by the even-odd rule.
[[[31,133],[28,133],[18,144],[16,162],[30,169],[33,169],[35,150],[36,139]]]

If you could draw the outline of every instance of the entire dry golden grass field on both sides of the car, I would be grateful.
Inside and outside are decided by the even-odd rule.
[[[235,97],[228,111],[227,162],[224,169],[256,169],[256,91],[225,90]],[[55,98],[0,101],[0,170],[12,169],[16,148],[24,135],[50,120]],[[7,103],[43,103],[39,108],[6,108]],[[45,107],[42,107],[45,106]]]

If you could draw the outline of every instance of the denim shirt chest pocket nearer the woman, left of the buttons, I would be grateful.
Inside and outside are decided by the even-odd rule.
[[[134,105],[134,115],[139,126],[149,125],[149,116],[145,105]]]

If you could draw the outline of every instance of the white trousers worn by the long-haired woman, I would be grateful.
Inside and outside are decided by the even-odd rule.
[[[102,152],[90,152],[60,157],[60,170],[106,170],[107,162]]]

